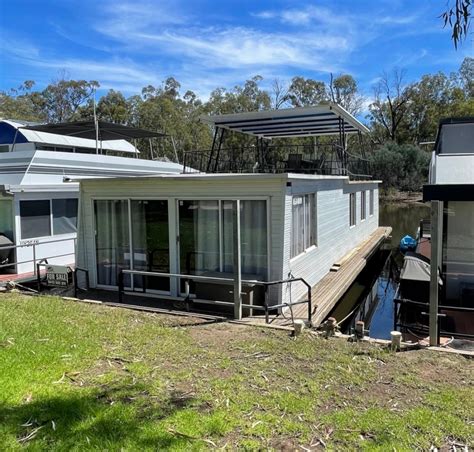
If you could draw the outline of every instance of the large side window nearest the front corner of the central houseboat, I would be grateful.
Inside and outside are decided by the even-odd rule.
[[[297,259],[298,257],[308,253],[318,246],[318,221],[317,221],[317,193],[301,193],[301,194],[294,194],[291,196],[291,239],[290,239],[290,261]],[[295,198],[302,198],[303,204],[303,250],[295,250],[293,255],[294,249],[296,247],[293,246],[294,237],[297,235],[293,232],[294,227],[294,199]],[[305,200],[308,199],[306,202]],[[310,206],[310,208],[308,208]],[[306,221],[307,216],[306,213],[309,212],[309,235],[307,234],[306,230]],[[298,252],[299,251],[299,252]]]

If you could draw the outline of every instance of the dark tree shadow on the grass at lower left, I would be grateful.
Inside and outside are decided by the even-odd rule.
[[[150,395],[139,385],[71,389],[18,405],[0,403],[0,442],[34,448],[186,448],[192,437],[169,429],[169,418],[196,407],[186,393]],[[199,409],[199,406],[197,407]]]

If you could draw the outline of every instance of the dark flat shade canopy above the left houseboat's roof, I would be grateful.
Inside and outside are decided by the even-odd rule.
[[[138,129],[136,127],[123,126],[121,124],[114,124],[107,121],[97,121],[99,140],[123,140],[132,138],[153,138],[163,137],[163,133],[151,132],[145,129]],[[36,130],[39,132],[54,133],[57,135],[67,135],[77,138],[88,138],[95,140],[96,138],[96,124],[95,121],[77,121],[77,122],[63,122],[59,124],[41,124],[26,126],[22,129]]]

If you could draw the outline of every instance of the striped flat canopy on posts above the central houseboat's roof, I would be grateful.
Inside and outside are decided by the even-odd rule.
[[[369,132],[369,129],[348,111],[330,102],[314,107],[201,116],[201,120],[215,127],[261,138]]]

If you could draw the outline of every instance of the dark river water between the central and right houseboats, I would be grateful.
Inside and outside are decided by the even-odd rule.
[[[390,266],[401,266],[403,258],[398,251],[400,239],[416,235],[420,220],[429,218],[430,208],[422,203],[381,203],[379,224],[392,227],[392,239],[359,275],[346,295],[330,314],[342,330],[351,332],[357,320],[363,320],[370,336],[389,339],[393,330],[393,297],[396,284]],[[344,320],[345,319],[345,320]]]

